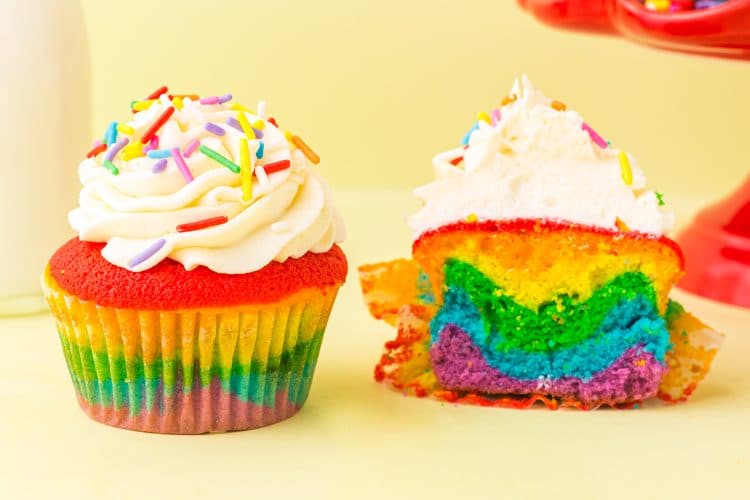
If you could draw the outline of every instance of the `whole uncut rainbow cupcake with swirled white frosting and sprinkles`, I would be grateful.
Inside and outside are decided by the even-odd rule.
[[[42,278],[81,408],[177,434],[292,416],[347,271],[318,157],[263,102],[163,87],[131,108]]]

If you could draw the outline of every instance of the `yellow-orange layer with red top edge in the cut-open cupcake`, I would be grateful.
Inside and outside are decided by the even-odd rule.
[[[678,247],[666,238],[531,221],[443,228],[422,236],[413,256],[429,275],[438,304],[446,259],[473,265],[534,310],[559,295],[585,301],[617,276],[641,272],[653,282],[663,314],[669,291],[683,274]]]

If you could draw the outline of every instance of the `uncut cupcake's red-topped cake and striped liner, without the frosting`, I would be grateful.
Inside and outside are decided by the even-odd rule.
[[[100,248],[71,240],[44,276],[89,416],[192,434],[260,427],[299,410],[346,275],[338,247],[246,275],[188,272],[167,260],[138,275],[138,288]]]

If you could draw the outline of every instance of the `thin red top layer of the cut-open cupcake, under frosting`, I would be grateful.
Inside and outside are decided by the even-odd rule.
[[[660,243],[670,247],[674,250],[675,254],[680,261],[680,268],[685,269],[685,256],[682,253],[682,249],[677,242],[667,238],[666,236],[654,236],[652,234],[640,233],[638,231],[615,231],[612,229],[606,229],[602,227],[586,226],[583,224],[574,224],[569,222],[560,222],[554,220],[541,220],[541,219],[512,219],[512,220],[490,220],[490,221],[478,221],[478,222],[455,222],[453,224],[447,224],[437,229],[427,231],[420,235],[420,237],[412,245],[412,252],[415,252],[417,247],[431,236],[440,233],[451,233],[456,231],[486,231],[486,232],[530,232],[530,231],[569,231],[569,230],[585,231],[589,233],[598,233],[610,236],[618,236],[632,239],[649,239],[657,240]]]

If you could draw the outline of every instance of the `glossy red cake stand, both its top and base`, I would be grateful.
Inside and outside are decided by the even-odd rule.
[[[518,0],[559,28],[622,35],[662,49],[750,61],[750,0],[703,10],[654,12],[639,0]],[[687,261],[680,287],[750,308],[750,177],[703,209],[677,236]]]

